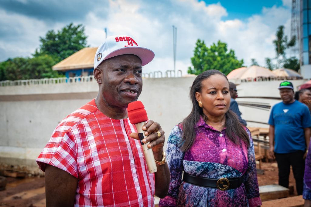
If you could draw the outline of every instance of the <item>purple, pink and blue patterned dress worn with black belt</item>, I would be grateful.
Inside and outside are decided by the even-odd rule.
[[[159,206],[259,206],[256,163],[253,140],[248,129],[250,146],[234,144],[201,118],[196,125],[196,139],[186,153],[180,150],[182,127],[175,126],[167,141],[167,162],[171,173],[168,195]],[[243,176],[240,187],[220,191],[181,181],[183,170],[206,178],[235,178]]]

